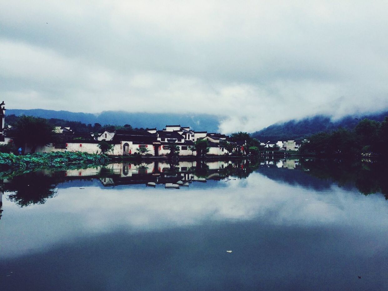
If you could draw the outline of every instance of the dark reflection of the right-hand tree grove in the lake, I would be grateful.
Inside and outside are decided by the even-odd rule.
[[[312,176],[335,181],[340,186],[354,185],[364,195],[383,193],[388,199],[388,170],[382,161],[301,159],[300,164]]]

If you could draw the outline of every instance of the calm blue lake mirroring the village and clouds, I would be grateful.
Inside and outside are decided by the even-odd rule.
[[[0,289],[388,290],[385,168],[124,163],[3,179]]]

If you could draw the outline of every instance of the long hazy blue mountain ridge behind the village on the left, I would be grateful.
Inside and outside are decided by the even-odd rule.
[[[130,124],[132,127],[157,127],[162,129],[168,124],[180,124],[181,126],[190,126],[196,131],[218,131],[220,120],[223,116],[209,114],[168,114],[168,113],[145,113],[145,112],[125,112],[125,111],[103,111],[99,114],[70,112],[70,111],[55,111],[45,109],[7,109],[7,115],[15,114],[31,115],[43,118],[57,118],[68,121],[80,121],[85,124],[100,123],[125,125]]]

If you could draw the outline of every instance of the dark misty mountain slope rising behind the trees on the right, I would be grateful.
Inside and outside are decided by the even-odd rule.
[[[369,115],[349,115],[336,121],[333,121],[330,116],[316,115],[301,120],[272,124],[260,131],[252,133],[251,136],[260,141],[300,140],[320,131],[332,131],[339,127],[352,129],[364,118],[383,121],[385,116],[388,116],[388,111]]]

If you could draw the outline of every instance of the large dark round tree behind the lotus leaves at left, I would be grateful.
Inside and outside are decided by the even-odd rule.
[[[35,153],[36,146],[44,146],[54,140],[54,127],[47,119],[22,115],[16,122],[17,142],[21,146],[30,146]]]

